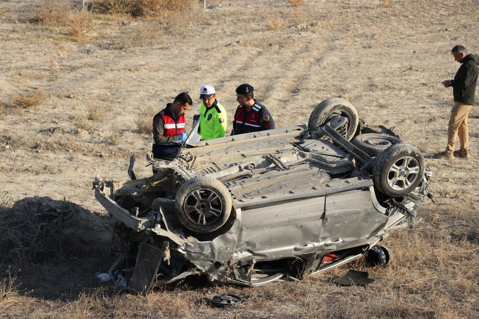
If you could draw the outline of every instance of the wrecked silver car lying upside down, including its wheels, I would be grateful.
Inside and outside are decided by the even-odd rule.
[[[153,176],[97,176],[97,200],[117,218],[118,256],[104,278],[146,294],[204,274],[249,287],[307,275],[366,256],[414,227],[431,173],[422,154],[384,127],[365,126],[331,98],[308,125],[192,142],[172,161],[147,160]]]

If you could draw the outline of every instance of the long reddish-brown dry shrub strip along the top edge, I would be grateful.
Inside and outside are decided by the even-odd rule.
[[[194,0],[94,0],[92,10],[108,14],[161,16],[184,12],[195,5]]]

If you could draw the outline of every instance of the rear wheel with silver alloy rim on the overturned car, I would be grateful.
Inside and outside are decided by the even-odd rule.
[[[395,144],[379,154],[373,167],[376,188],[397,197],[410,193],[423,180],[424,157],[409,144]]]

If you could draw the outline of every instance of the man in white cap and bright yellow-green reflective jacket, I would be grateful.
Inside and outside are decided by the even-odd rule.
[[[204,85],[200,89],[200,127],[198,134],[203,140],[212,140],[225,137],[228,118],[225,108],[218,103],[216,91],[212,85]]]

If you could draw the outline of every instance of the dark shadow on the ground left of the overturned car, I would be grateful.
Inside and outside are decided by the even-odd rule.
[[[111,264],[112,218],[69,201],[27,197],[0,206],[0,272],[19,292],[46,300],[75,298],[99,286]]]

